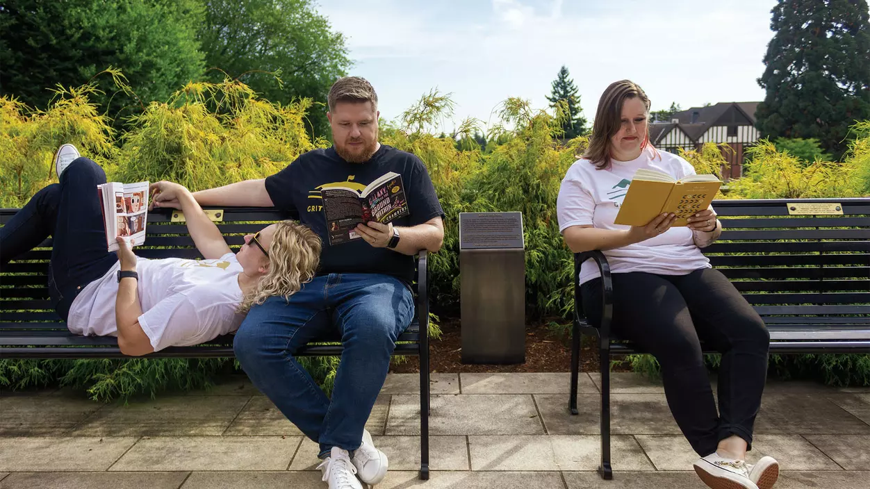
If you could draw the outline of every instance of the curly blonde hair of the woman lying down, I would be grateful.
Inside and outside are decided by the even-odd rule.
[[[275,234],[269,245],[269,271],[260,278],[254,289],[244,294],[238,312],[244,313],[252,305],[261,305],[272,296],[290,296],[311,281],[320,263],[320,237],[307,226],[296,221],[275,223]]]

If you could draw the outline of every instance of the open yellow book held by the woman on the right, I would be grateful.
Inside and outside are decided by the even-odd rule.
[[[690,175],[676,180],[655,170],[640,169],[628,186],[619,206],[615,224],[645,226],[663,212],[673,212],[674,226],[685,226],[686,218],[709,207],[722,182],[715,175]]]

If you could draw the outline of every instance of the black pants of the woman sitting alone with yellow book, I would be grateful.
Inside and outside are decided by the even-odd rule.
[[[721,272],[688,275],[614,273],[613,335],[632,341],[661,365],[667,404],[702,457],[731,435],[752,448],[770,335],[759,315]],[[592,325],[601,319],[601,279],[580,288]],[[719,412],[699,340],[722,354]],[[605,360],[602,360],[605,361]]]

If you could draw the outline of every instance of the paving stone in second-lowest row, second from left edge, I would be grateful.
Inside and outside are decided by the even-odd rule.
[[[155,437],[139,440],[112,471],[283,471],[301,437]]]

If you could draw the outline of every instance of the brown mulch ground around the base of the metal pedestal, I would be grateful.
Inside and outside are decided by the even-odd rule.
[[[458,318],[442,318],[441,338],[430,340],[430,365],[432,372],[570,372],[571,338],[559,335],[542,322],[526,326],[525,363],[517,365],[465,365],[462,363],[462,332]],[[597,372],[599,369],[598,349],[593,347],[591,338],[584,338],[581,347],[580,370]],[[418,362],[409,358],[403,364],[391,365],[393,373],[416,373]]]

